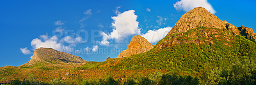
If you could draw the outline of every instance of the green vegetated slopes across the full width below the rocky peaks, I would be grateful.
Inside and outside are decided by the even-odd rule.
[[[79,67],[53,63],[2,67],[0,79],[19,78],[17,83],[36,79],[44,84],[256,84],[256,44],[231,34],[227,29],[198,27],[166,36],[156,45],[170,42],[168,47],[127,58]]]

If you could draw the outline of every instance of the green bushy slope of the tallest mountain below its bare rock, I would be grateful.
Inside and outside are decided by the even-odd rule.
[[[216,32],[216,34],[207,35],[205,32]],[[195,34],[196,36],[191,36]],[[255,72],[256,44],[245,39],[244,36],[230,36],[230,34],[227,29],[198,27],[197,29],[188,30],[188,32],[165,37],[157,43],[161,44],[161,42],[168,41],[167,39],[169,41],[179,40],[179,44],[174,44],[168,48],[153,48],[145,53],[128,58],[111,59],[106,62],[88,62],[82,67],[74,68],[74,70],[117,69],[127,71],[154,69],[163,70],[163,73],[168,74],[199,77],[202,83],[215,83],[215,80],[214,82],[211,80],[212,72],[220,71],[218,74],[214,73],[216,76],[213,79],[220,77],[221,74],[223,80],[216,82],[236,83],[233,80],[250,76]],[[194,42],[198,39],[200,44]],[[236,72],[237,69],[241,73]],[[253,81],[250,80],[250,82]]]

